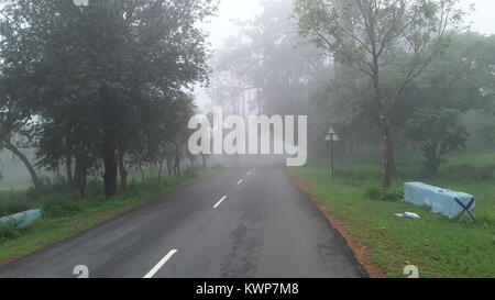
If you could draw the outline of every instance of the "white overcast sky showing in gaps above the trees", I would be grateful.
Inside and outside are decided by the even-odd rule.
[[[239,29],[232,20],[249,20],[261,12],[263,0],[220,0],[217,16],[205,24],[210,33],[209,42],[213,49],[222,48],[224,40],[235,35]],[[287,0],[289,1],[289,0]],[[472,30],[484,34],[495,34],[495,0],[461,0],[468,8],[475,4],[475,12],[468,18]],[[198,104],[205,109],[208,99],[201,90],[197,90]]]

